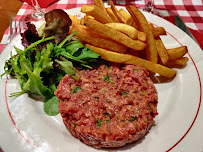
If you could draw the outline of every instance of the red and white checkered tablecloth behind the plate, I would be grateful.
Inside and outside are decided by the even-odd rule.
[[[107,2],[107,0],[104,0]],[[147,4],[148,0],[113,0],[115,5],[128,5],[132,4],[137,7],[143,7]],[[92,4],[93,0],[59,0],[56,3],[51,4],[47,9],[64,9],[81,7],[84,4]],[[155,8],[167,11],[167,20],[172,21],[173,15],[178,14],[182,17],[186,26],[191,28],[195,32],[195,36],[202,37],[203,40],[203,0],[154,0]],[[26,14],[32,11],[32,6],[27,3],[23,3],[22,7],[18,11],[16,18],[23,18]],[[166,11],[164,11],[166,12]],[[9,28],[5,31],[0,44],[0,53],[5,48],[6,41],[8,39]],[[199,41],[200,42],[200,41]],[[201,41],[202,42],[202,41]],[[202,42],[203,43],[203,42]]]

